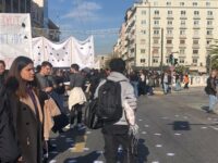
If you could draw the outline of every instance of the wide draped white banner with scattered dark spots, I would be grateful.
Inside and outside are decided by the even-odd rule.
[[[70,67],[72,63],[78,64],[81,68],[94,67],[94,39],[90,36],[80,41],[70,37],[55,43],[44,37],[34,38],[33,55],[35,66],[49,61],[55,67]]]

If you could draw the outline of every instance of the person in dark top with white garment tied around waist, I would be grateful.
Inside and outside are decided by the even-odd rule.
[[[86,102],[86,97],[83,91],[84,87],[84,76],[80,73],[80,66],[77,64],[71,65],[70,75],[70,96],[69,96],[69,109],[71,111],[70,124],[74,124],[74,118],[77,113],[77,128],[82,127],[82,116],[83,116],[83,104]]]

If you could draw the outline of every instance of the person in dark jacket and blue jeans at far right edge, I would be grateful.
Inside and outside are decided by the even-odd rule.
[[[209,109],[207,113],[214,113],[215,105],[217,104],[217,84],[216,84],[217,71],[213,71],[207,78],[207,95],[209,96]]]

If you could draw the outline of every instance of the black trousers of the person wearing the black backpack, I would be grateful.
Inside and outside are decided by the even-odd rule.
[[[106,163],[116,163],[119,159],[118,148],[122,146],[123,163],[136,163],[136,156],[132,152],[131,137],[128,135],[129,126],[111,125],[102,128],[105,139]]]

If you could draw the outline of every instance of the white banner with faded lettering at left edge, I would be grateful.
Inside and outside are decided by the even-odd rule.
[[[19,55],[33,58],[29,14],[0,13],[0,60],[9,68]]]

